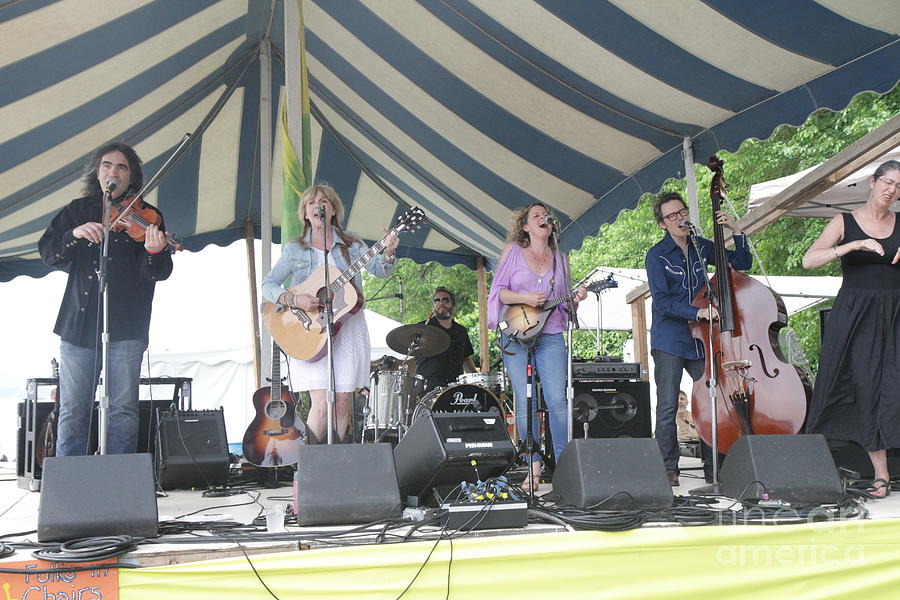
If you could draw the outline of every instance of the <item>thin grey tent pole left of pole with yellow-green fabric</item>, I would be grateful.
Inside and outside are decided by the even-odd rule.
[[[259,219],[262,238],[262,271],[272,269],[272,47],[266,38],[259,43]],[[271,348],[269,332],[260,331],[260,347]],[[260,352],[261,373],[270,373],[272,353]]]

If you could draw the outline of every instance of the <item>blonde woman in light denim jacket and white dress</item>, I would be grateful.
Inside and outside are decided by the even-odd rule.
[[[325,218],[321,217],[324,210]],[[341,229],[344,205],[333,188],[316,185],[300,197],[298,216],[303,220],[300,239],[286,244],[281,258],[262,283],[263,296],[270,302],[291,309],[314,311],[321,308],[318,297],[312,294],[292,294],[283,287],[290,276],[290,287],[302,284],[323,264],[324,250],[329,248],[330,278],[334,280],[350,264],[366,253],[366,245],[356,236]],[[326,227],[325,225],[329,226]],[[327,233],[326,233],[327,230]],[[327,236],[327,237],[326,237]],[[399,243],[396,235],[385,241],[384,259],[375,256],[366,265],[376,277],[388,277],[394,270],[394,251]],[[317,286],[324,285],[324,281]],[[359,275],[352,280],[361,297]],[[349,284],[348,284],[349,285]],[[327,428],[328,361],[288,358],[293,391],[309,391],[312,406],[306,423],[311,441],[324,440]],[[350,406],[353,391],[369,380],[369,332],[364,311],[360,310],[343,321],[334,339],[335,381],[335,439],[349,440]]]

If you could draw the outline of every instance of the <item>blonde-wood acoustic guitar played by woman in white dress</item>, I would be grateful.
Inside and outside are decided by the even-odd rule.
[[[359,312],[363,305],[362,293],[353,285],[353,278],[356,274],[376,254],[384,250],[385,241],[389,236],[398,235],[401,231],[415,231],[424,222],[425,213],[421,208],[416,206],[409,209],[400,217],[393,229],[331,282],[326,283],[325,265],[322,265],[313,271],[305,281],[292,287],[289,290],[290,293],[315,296],[319,299],[320,307],[324,307],[326,294],[330,294],[334,311],[334,335],[337,336],[341,325]],[[266,329],[287,354],[310,362],[325,356],[328,326],[325,321],[324,308],[306,311],[284,304],[265,302],[262,306],[262,314]]]

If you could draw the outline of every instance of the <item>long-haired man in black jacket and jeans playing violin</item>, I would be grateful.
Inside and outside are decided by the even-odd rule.
[[[53,331],[60,336],[60,411],[57,456],[89,452],[94,393],[102,365],[102,305],[97,278],[103,238],[103,202],[124,202],[143,184],[141,160],[130,146],[111,142],[85,165],[83,196],[67,204],[41,236],[41,258],[68,271],[66,291]],[[149,206],[149,205],[145,205]],[[152,210],[156,210],[153,208]],[[156,211],[157,213],[159,211]],[[157,281],[172,273],[162,215],[148,225],[143,241],[125,231],[109,234],[110,454],[137,449],[138,386],[147,348],[150,312]]]

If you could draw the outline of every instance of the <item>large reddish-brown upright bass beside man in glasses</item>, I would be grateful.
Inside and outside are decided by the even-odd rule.
[[[715,214],[725,192],[722,161],[710,157],[709,169],[713,172],[710,197]],[[712,302],[719,319],[712,328],[709,323],[691,323],[691,335],[702,341],[707,353],[703,377],[694,382],[691,412],[700,437],[712,445],[710,378],[715,369],[717,441],[724,454],[743,435],[801,431],[812,388],[802,372],[785,360],[778,345],[778,332],[787,325],[781,296],[731,266],[723,226],[714,226],[712,294],[704,287],[692,304],[706,308]]]

